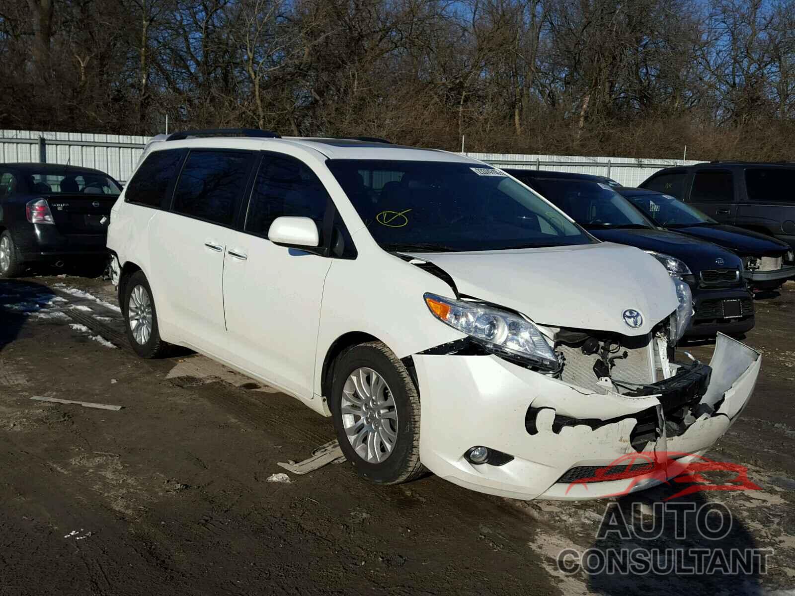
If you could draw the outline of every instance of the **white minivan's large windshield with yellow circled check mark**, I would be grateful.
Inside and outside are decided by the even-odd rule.
[[[431,161],[327,164],[385,250],[507,250],[595,242],[494,168]]]

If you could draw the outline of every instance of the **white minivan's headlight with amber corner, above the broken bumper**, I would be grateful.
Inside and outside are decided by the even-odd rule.
[[[528,320],[512,312],[478,304],[425,294],[432,314],[450,327],[462,331],[495,354],[513,356],[545,370],[558,370],[555,352],[544,335]]]

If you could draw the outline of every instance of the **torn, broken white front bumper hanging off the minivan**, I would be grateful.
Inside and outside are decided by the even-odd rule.
[[[648,395],[596,393],[496,356],[415,354],[413,362],[421,394],[420,457],[429,470],[503,497],[580,500],[643,490],[665,479],[572,484],[574,470],[610,466],[641,448],[703,454],[745,408],[762,358],[719,334],[711,376],[704,377],[706,367],[692,367],[692,378],[678,383],[677,391],[669,386],[677,383],[668,383]],[[707,378],[703,396],[682,416],[681,404],[673,401],[687,401],[688,386]],[[475,446],[513,459],[472,464],[465,454]]]

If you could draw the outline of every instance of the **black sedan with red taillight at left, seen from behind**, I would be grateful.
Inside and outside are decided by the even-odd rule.
[[[26,265],[106,257],[122,188],[104,172],[59,164],[0,164],[0,277]]]

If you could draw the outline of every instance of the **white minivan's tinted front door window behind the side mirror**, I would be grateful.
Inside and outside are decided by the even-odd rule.
[[[328,202],[326,188],[306,164],[294,157],[266,157],[251,195],[246,231],[267,236],[277,217],[308,217],[317,224],[322,245]]]

